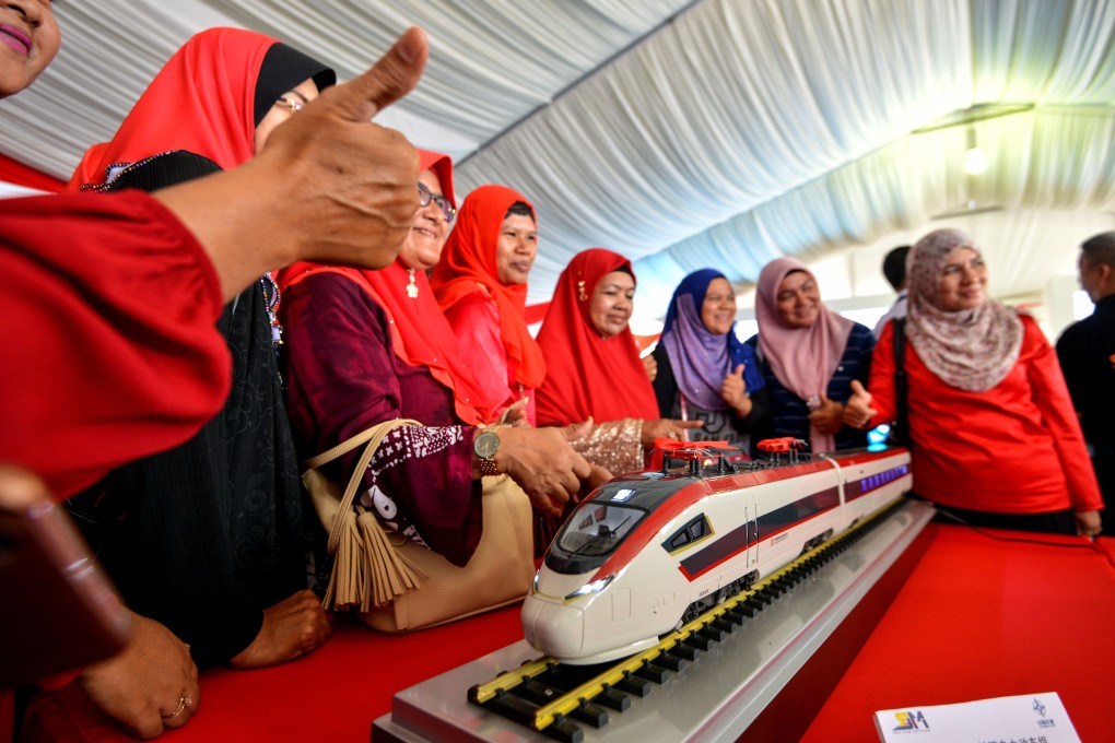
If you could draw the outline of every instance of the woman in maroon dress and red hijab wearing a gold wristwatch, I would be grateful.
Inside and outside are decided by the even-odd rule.
[[[376,451],[363,505],[375,506],[397,531],[463,566],[481,538],[481,476],[492,473],[479,468],[474,440],[477,427],[498,417],[500,399],[488,397],[465,364],[426,277],[456,209],[449,158],[424,150],[419,157],[425,205],[392,265],[358,271],[301,263],[280,273],[287,399],[309,453],[385,420],[420,421],[423,427],[392,431]],[[497,436],[504,457],[517,457],[524,442],[573,454],[553,433],[524,428]],[[356,458],[342,458],[342,471],[351,471]],[[507,471],[500,469],[504,461],[495,460],[497,471]],[[518,472],[508,473],[527,487]],[[539,495],[532,504],[543,512],[559,506]]]

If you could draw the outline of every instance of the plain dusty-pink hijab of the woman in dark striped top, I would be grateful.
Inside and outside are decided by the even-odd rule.
[[[759,323],[759,349],[782,385],[808,400],[828,388],[828,380],[844,355],[844,346],[854,323],[832,312],[824,304],[809,327],[791,327],[778,316],[778,286],[794,272],[804,272],[816,283],[805,264],[795,258],[776,258],[759,273],[755,317]],[[833,451],[836,442],[831,434],[809,430],[813,451]]]

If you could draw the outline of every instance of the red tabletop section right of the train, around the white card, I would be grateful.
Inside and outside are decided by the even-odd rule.
[[[1115,539],[940,527],[804,742],[876,741],[878,710],[1057,692],[1115,741]]]

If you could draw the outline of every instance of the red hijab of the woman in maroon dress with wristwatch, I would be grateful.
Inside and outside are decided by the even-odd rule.
[[[433,170],[442,186],[442,194],[456,206],[453,197],[453,162],[448,155],[418,150],[418,172]],[[417,182],[417,177],[415,178]],[[279,286],[299,283],[314,273],[337,273],[355,282],[387,312],[391,321],[391,343],[395,355],[411,366],[426,366],[438,382],[453,391],[454,408],[459,418],[471,426],[489,423],[495,419],[494,404],[485,401],[473,381],[472,371],[465,365],[457,346],[457,336],[437,306],[426,272],[415,271],[418,295],[407,294],[410,271],[399,258],[380,271],[361,271],[313,263],[295,263],[279,272]]]

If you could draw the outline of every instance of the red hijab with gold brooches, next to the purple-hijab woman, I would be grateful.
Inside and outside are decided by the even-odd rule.
[[[613,271],[634,277],[630,261],[593,247],[570,261],[558,280],[539,331],[546,360],[546,379],[537,392],[539,423],[568,426],[590,416],[598,423],[659,417],[631,329],[601,338],[589,315],[597,284]]]

